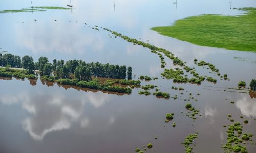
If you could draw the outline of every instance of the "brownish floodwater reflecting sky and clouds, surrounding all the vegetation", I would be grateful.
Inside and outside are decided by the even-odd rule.
[[[153,84],[179,97],[174,100],[139,95],[138,88],[131,95],[118,95],[44,85],[40,80],[35,83],[27,79],[0,79],[0,152],[135,152],[136,147],[142,149],[147,143],[153,143],[153,148],[146,152],[184,152],[181,142],[195,132],[199,134],[194,152],[223,152],[221,146],[227,137],[223,125],[231,123],[227,114],[235,122],[249,120],[248,124],[243,123],[243,131],[254,136],[245,146],[248,152],[255,152],[256,145],[250,142],[256,142],[256,98],[224,90],[237,88],[241,80],[248,85],[256,78],[256,54],[198,46],[150,30],[192,15],[243,12],[230,10],[229,1],[223,0],[178,0],[177,5],[174,2],[77,0],[72,1],[73,10],[0,14],[0,48],[3,48],[0,51],[30,55],[35,60],[46,56],[50,61],[81,59],[132,66],[136,78],[139,75],[159,78],[142,81],[142,85]],[[33,6],[67,4],[69,0],[33,1]],[[30,5],[30,1],[2,0],[0,10]],[[233,7],[256,7],[256,2],[236,0],[231,3]],[[205,81],[198,86],[161,79],[164,69],[160,68],[157,55],[120,38],[110,38],[100,28],[93,30],[94,25],[168,49],[188,66],[196,67],[199,74],[218,78],[218,83]],[[221,81],[216,74],[196,66],[195,58],[214,64],[222,74],[228,74],[230,81]],[[166,68],[174,67],[167,58],[165,61]],[[172,86],[183,87],[184,91],[172,90]],[[198,101],[184,101],[189,99],[189,93]],[[234,104],[230,104],[231,100]],[[181,114],[186,114],[184,106],[188,102],[201,112],[196,120]],[[175,113],[169,123],[164,122],[166,113]],[[173,122],[176,127],[172,127]]]

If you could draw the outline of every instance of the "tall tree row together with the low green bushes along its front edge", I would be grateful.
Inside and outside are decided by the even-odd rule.
[[[140,81],[125,80],[126,66],[110,65],[109,63],[101,64],[86,63],[82,60],[69,60],[65,63],[63,60],[53,60],[50,63],[47,57],[40,57],[38,62],[34,63],[32,57],[24,56],[22,60],[19,56],[11,54],[0,55],[1,77],[18,77],[35,79],[34,70],[38,70],[41,80],[56,82],[63,85],[74,85],[81,88],[90,88],[103,91],[112,91],[119,93],[131,93],[130,87],[121,87],[121,85],[131,85],[132,87],[140,86]],[[25,68],[25,70],[11,69]],[[132,69],[129,68],[129,73]],[[94,78],[100,78],[93,79]],[[127,76],[128,77],[128,76]],[[104,80],[102,78],[110,78],[112,80]]]

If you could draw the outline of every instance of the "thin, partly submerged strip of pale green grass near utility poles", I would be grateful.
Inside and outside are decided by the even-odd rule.
[[[21,12],[38,12],[38,11],[48,11],[48,10],[70,10],[72,8],[65,7],[32,7],[20,10],[2,10],[0,13],[21,13]]]

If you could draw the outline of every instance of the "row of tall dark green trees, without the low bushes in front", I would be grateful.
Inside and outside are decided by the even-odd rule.
[[[47,57],[40,57],[38,62],[34,62],[30,56],[24,56],[22,59],[19,56],[12,54],[0,55],[0,66],[11,65],[12,67],[25,68],[29,70],[29,73],[34,73],[37,69],[40,71],[40,75],[55,75],[58,79],[75,78],[79,80],[90,81],[92,75],[102,78],[113,79],[132,79],[132,67],[126,68],[125,65],[111,65],[109,63],[101,64],[86,63],[82,60],[53,60],[50,63]],[[73,75],[74,74],[74,75]]]

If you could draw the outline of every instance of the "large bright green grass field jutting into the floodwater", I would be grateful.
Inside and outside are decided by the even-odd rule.
[[[203,14],[152,30],[201,46],[256,52],[256,8],[239,16]]]

